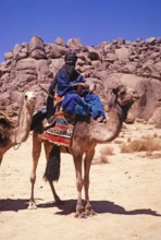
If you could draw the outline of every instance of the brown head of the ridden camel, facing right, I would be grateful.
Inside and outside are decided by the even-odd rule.
[[[134,88],[124,85],[119,85],[117,87],[113,88],[112,93],[115,95],[115,101],[117,101],[120,106],[132,106],[140,98],[139,94]]]

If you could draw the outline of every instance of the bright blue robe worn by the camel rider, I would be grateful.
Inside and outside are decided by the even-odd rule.
[[[76,72],[76,71],[75,71]],[[76,72],[77,73],[77,72]],[[61,103],[63,110],[71,115],[92,116],[106,118],[102,103],[98,95],[89,93],[88,88],[84,87],[81,94],[77,94],[75,83],[84,83],[84,77],[81,74],[75,74],[75,77],[69,80],[63,70],[57,74],[57,94],[64,99]]]

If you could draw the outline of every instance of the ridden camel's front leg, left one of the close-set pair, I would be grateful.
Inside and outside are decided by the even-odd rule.
[[[73,156],[76,173],[76,188],[77,188],[77,203],[75,217],[84,217],[84,207],[82,204],[82,189],[83,189],[83,177],[82,177],[82,161],[83,155]]]

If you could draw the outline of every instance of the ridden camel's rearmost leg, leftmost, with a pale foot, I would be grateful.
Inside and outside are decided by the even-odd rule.
[[[41,142],[38,139],[38,133],[33,132],[33,169],[32,169],[32,175],[30,175],[32,193],[30,193],[30,201],[29,201],[28,209],[37,208],[35,204],[35,197],[34,197],[34,187],[36,182],[36,169],[38,165],[38,159],[40,157],[40,153],[41,153]]]

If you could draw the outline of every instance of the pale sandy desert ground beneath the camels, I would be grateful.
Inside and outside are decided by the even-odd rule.
[[[124,139],[150,130],[136,124],[128,128],[132,131]],[[101,158],[102,147],[97,146],[95,161]],[[151,157],[143,152],[120,154],[115,146],[107,158],[108,164],[94,164],[90,171],[90,200],[98,214],[79,219],[74,217],[77,193],[72,157],[62,155],[61,177],[54,185],[64,204],[57,206],[42,180],[42,152],[35,188],[38,208],[29,211],[32,135],[17,151],[10,149],[0,167],[0,239],[160,240],[161,152]]]

